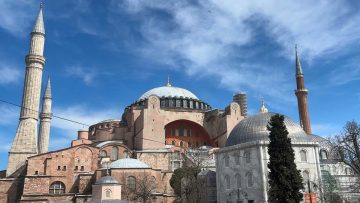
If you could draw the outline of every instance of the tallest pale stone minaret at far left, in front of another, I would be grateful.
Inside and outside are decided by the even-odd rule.
[[[42,6],[30,35],[30,50],[25,58],[26,73],[19,125],[9,152],[6,176],[12,175],[24,165],[27,157],[37,154],[37,123],[39,117],[45,28]]]

